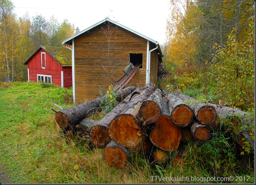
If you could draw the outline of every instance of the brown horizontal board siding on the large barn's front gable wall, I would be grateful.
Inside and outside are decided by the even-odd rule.
[[[113,24],[110,30],[113,29],[116,35],[112,34],[113,37],[108,42],[101,28],[108,29],[106,24],[101,24],[75,38],[75,90],[78,103],[95,99],[99,96],[100,87],[105,91],[109,80],[113,84],[112,78],[117,80],[121,77],[123,68],[129,64],[130,53],[143,54],[143,66],[133,82],[145,84],[147,40],[123,28],[116,29]],[[109,43],[112,44],[111,48]],[[108,49],[110,50],[107,53]],[[111,61],[110,66],[108,61]]]

